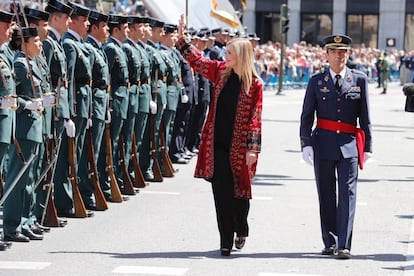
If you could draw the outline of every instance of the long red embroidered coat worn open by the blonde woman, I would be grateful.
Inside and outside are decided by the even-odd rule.
[[[209,79],[214,84],[209,113],[204,124],[198,153],[195,177],[211,180],[214,175],[214,122],[217,100],[221,90],[227,82],[223,72],[225,61],[216,61],[204,58],[193,45],[188,45],[184,39],[177,43],[183,57],[191,67]],[[243,89],[243,88],[242,88]],[[254,78],[249,95],[240,91],[239,101],[234,122],[233,138],[230,148],[230,164],[234,179],[234,197],[251,198],[252,178],[256,173],[257,163],[247,167],[246,152],[248,150],[260,152],[262,126],[262,92],[263,83]]]

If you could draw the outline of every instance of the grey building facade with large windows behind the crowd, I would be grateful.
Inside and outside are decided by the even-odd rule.
[[[236,9],[240,1],[231,1]],[[321,44],[347,34],[354,47],[414,49],[414,0],[247,0],[242,22],[262,42],[280,41],[280,8],[289,8],[287,43]]]

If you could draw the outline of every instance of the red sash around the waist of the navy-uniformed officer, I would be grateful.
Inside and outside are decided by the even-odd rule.
[[[326,119],[318,118],[316,121],[316,127],[320,129],[325,129],[329,131],[335,131],[336,133],[355,133],[357,149],[358,149],[358,163],[359,168],[362,170],[364,168],[364,146],[365,146],[365,132],[357,128],[354,125],[336,122]]]

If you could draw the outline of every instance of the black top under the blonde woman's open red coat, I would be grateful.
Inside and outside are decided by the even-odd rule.
[[[214,146],[230,150],[233,137],[234,119],[241,89],[241,80],[231,73],[217,100],[214,128]]]

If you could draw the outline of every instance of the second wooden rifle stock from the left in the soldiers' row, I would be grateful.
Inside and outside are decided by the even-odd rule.
[[[69,181],[72,186],[73,207],[75,208],[75,217],[86,218],[88,213],[83,203],[82,196],[78,187],[78,178],[76,175],[76,150],[75,138],[68,137],[69,142]]]

